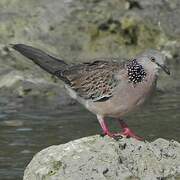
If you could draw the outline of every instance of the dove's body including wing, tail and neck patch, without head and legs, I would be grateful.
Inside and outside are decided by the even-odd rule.
[[[136,59],[68,65],[31,46],[17,44],[13,48],[64,81],[69,94],[95,114],[121,116],[142,104],[155,84],[155,74]]]

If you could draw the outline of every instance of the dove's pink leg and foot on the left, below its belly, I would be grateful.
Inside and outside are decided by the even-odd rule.
[[[103,117],[98,116],[97,118],[101,125],[101,128],[103,129],[104,135],[108,135],[109,137],[122,137],[120,133],[111,133],[109,131],[108,125]]]

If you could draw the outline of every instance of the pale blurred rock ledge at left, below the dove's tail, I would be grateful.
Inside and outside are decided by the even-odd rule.
[[[43,97],[47,100],[56,100],[58,104],[71,104],[72,99],[65,94],[62,86],[58,83],[48,81],[46,78],[35,77],[30,73],[20,71],[9,71],[0,76],[0,93],[6,98],[10,97]],[[57,103],[56,103],[57,104]]]

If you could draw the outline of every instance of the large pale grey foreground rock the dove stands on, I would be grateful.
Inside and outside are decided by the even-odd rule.
[[[180,179],[180,143],[140,142],[98,135],[37,153],[24,180]]]

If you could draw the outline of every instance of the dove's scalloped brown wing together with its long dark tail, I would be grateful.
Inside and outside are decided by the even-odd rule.
[[[124,65],[117,61],[96,60],[68,66],[64,61],[31,46],[16,44],[13,48],[45,71],[63,80],[80,97],[93,101],[107,100],[113,95],[119,81],[115,74]]]

